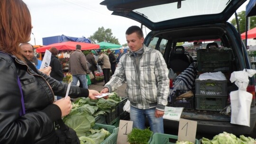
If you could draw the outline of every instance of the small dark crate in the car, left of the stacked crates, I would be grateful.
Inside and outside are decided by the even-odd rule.
[[[189,90],[176,90],[175,96],[172,97],[172,107],[183,107],[187,109],[194,109],[194,96],[182,97],[185,92]]]

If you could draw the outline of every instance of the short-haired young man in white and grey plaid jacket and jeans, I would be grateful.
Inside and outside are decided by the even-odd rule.
[[[120,58],[116,72],[101,93],[117,90],[127,81],[133,127],[145,129],[146,117],[154,133],[164,133],[163,116],[169,93],[168,68],[162,54],[146,47],[140,27],[126,31],[130,52]]]

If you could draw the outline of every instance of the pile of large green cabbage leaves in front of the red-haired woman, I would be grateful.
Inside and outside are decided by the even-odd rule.
[[[110,132],[105,129],[93,129],[95,117],[110,113],[122,98],[113,92],[109,99],[79,98],[72,102],[69,115],[63,118],[64,123],[76,131],[81,144],[101,144]]]

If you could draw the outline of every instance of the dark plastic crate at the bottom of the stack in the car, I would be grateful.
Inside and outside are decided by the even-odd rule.
[[[228,96],[195,95],[196,109],[221,111],[226,107]]]

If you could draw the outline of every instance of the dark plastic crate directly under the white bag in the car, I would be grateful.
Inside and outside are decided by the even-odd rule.
[[[227,96],[228,81],[195,80],[196,95]]]

